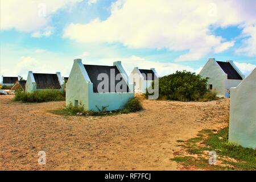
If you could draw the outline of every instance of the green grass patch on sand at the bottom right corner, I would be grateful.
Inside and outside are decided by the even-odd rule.
[[[213,130],[202,130],[198,135],[200,137],[189,139],[183,145],[188,154],[197,154],[198,158],[175,156],[176,162],[180,162],[185,167],[196,166],[207,170],[256,170],[256,151],[229,143],[228,127],[216,134]],[[207,160],[209,156],[203,151],[216,151],[217,160],[221,160],[224,166],[210,165]]]

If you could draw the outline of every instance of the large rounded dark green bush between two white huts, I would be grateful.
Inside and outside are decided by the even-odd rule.
[[[207,93],[208,78],[196,73],[177,71],[159,78],[159,98],[175,101],[198,101]]]

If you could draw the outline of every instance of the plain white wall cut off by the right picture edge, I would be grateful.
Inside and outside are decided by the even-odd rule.
[[[256,68],[230,92],[229,141],[256,147]]]

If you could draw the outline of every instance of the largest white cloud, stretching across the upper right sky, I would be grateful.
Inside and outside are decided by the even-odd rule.
[[[233,41],[226,42],[213,35],[209,27],[251,26],[256,22],[253,5],[255,2],[250,0],[246,3],[238,0],[155,0],[150,3],[119,0],[113,3],[108,19],[71,23],[64,37],[83,43],[119,42],[130,48],[187,50],[188,53],[175,61],[198,60],[210,52],[220,53],[234,45]]]

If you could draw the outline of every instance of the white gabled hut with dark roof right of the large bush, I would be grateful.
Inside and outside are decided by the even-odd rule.
[[[209,59],[199,73],[203,78],[209,77],[208,89],[216,90],[217,96],[229,97],[230,88],[237,86],[245,78],[233,61],[216,61]]]

